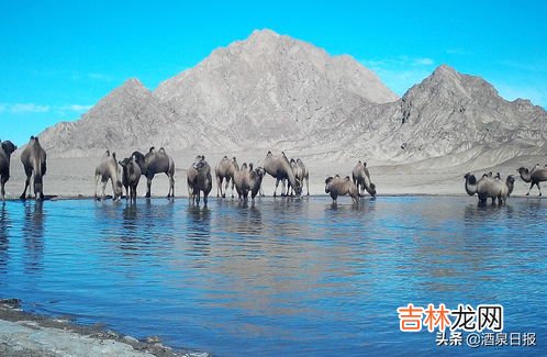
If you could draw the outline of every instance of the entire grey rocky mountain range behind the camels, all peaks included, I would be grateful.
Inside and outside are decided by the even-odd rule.
[[[274,149],[315,159],[443,165],[547,152],[547,113],[506,101],[448,66],[398,98],[349,56],[256,31],[150,92],[136,79],[79,121],[41,134],[53,155],[104,148],[231,153]],[[429,165],[429,164],[428,164]]]

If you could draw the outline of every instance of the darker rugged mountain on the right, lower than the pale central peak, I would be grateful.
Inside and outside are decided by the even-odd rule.
[[[347,152],[378,161],[444,157],[445,165],[456,165],[482,157],[485,165],[493,165],[520,155],[547,154],[543,108],[528,100],[506,101],[483,79],[446,65],[400,100],[354,111],[342,126]]]

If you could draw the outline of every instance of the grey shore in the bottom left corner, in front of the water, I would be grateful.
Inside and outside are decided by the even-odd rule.
[[[34,314],[21,309],[19,299],[0,300],[1,356],[157,356],[208,357],[206,352],[175,349],[159,338],[137,339],[100,325]]]

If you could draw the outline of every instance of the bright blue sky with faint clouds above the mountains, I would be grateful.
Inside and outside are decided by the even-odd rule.
[[[271,29],[349,54],[400,96],[448,64],[547,108],[545,1],[0,2],[0,138],[76,120],[127,78],[146,87]]]

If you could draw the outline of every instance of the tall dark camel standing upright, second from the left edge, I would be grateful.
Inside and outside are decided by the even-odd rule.
[[[40,145],[40,141],[37,136],[31,136],[29,144],[21,153],[21,163],[23,163],[24,172],[26,175],[26,180],[24,182],[24,190],[21,194],[21,200],[26,199],[26,189],[31,183],[31,176],[34,175],[34,196],[36,200],[44,199],[44,187],[43,187],[43,178],[46,174],[46,152]],[[29,192],[29,198],[31,198],[31,193]]]

